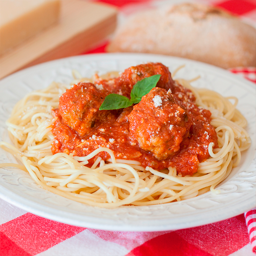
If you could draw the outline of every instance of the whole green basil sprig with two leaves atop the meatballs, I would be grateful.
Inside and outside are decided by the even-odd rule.
[[[149,93],[152,88],[156,87],[160,76],[161,75],[149,76],[138,81],[131,90],[131,99],[115,93],[109,94],[99,110],[128,108],[133,104],[139,103],[144,95]]]

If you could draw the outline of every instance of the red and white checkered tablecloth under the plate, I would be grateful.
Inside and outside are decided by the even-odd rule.
[[[198,0],[199,1],[199,0]],[[102,0],[131,11],[150,1]],[[166,0],[165,2],[172,2]],[[176,1],[177,2],[177,1]],[[255,0],[200,0],[256,23]],[[105,52],[107,41],[88,53]],[[256,83],[256,69],[230,70]],[[0,256],[255,256],[256,209],[236,217],[183,230],[119,232],[48,220],[0,199]]]

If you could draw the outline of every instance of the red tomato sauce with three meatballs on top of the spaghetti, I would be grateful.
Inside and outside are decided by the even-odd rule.
[[[137,81],[154,74],[161,74],[160,81],[140,103],[99,111],[109,93],[129,96]],[[218,146],[215,129],[209,124],[211,113],[198,107],[192,92],[173,81],[160,63],[130,67],[116,79],[75,84],[61,96],[53,113],[53,154],[86,156],[108,147],[117,159],[137,160],[157,170],[172,166],[185,176],[197,172],[198,163],[209,157],[209,143]],[[88,166],[97,157],[110,158],[100,152]]]

